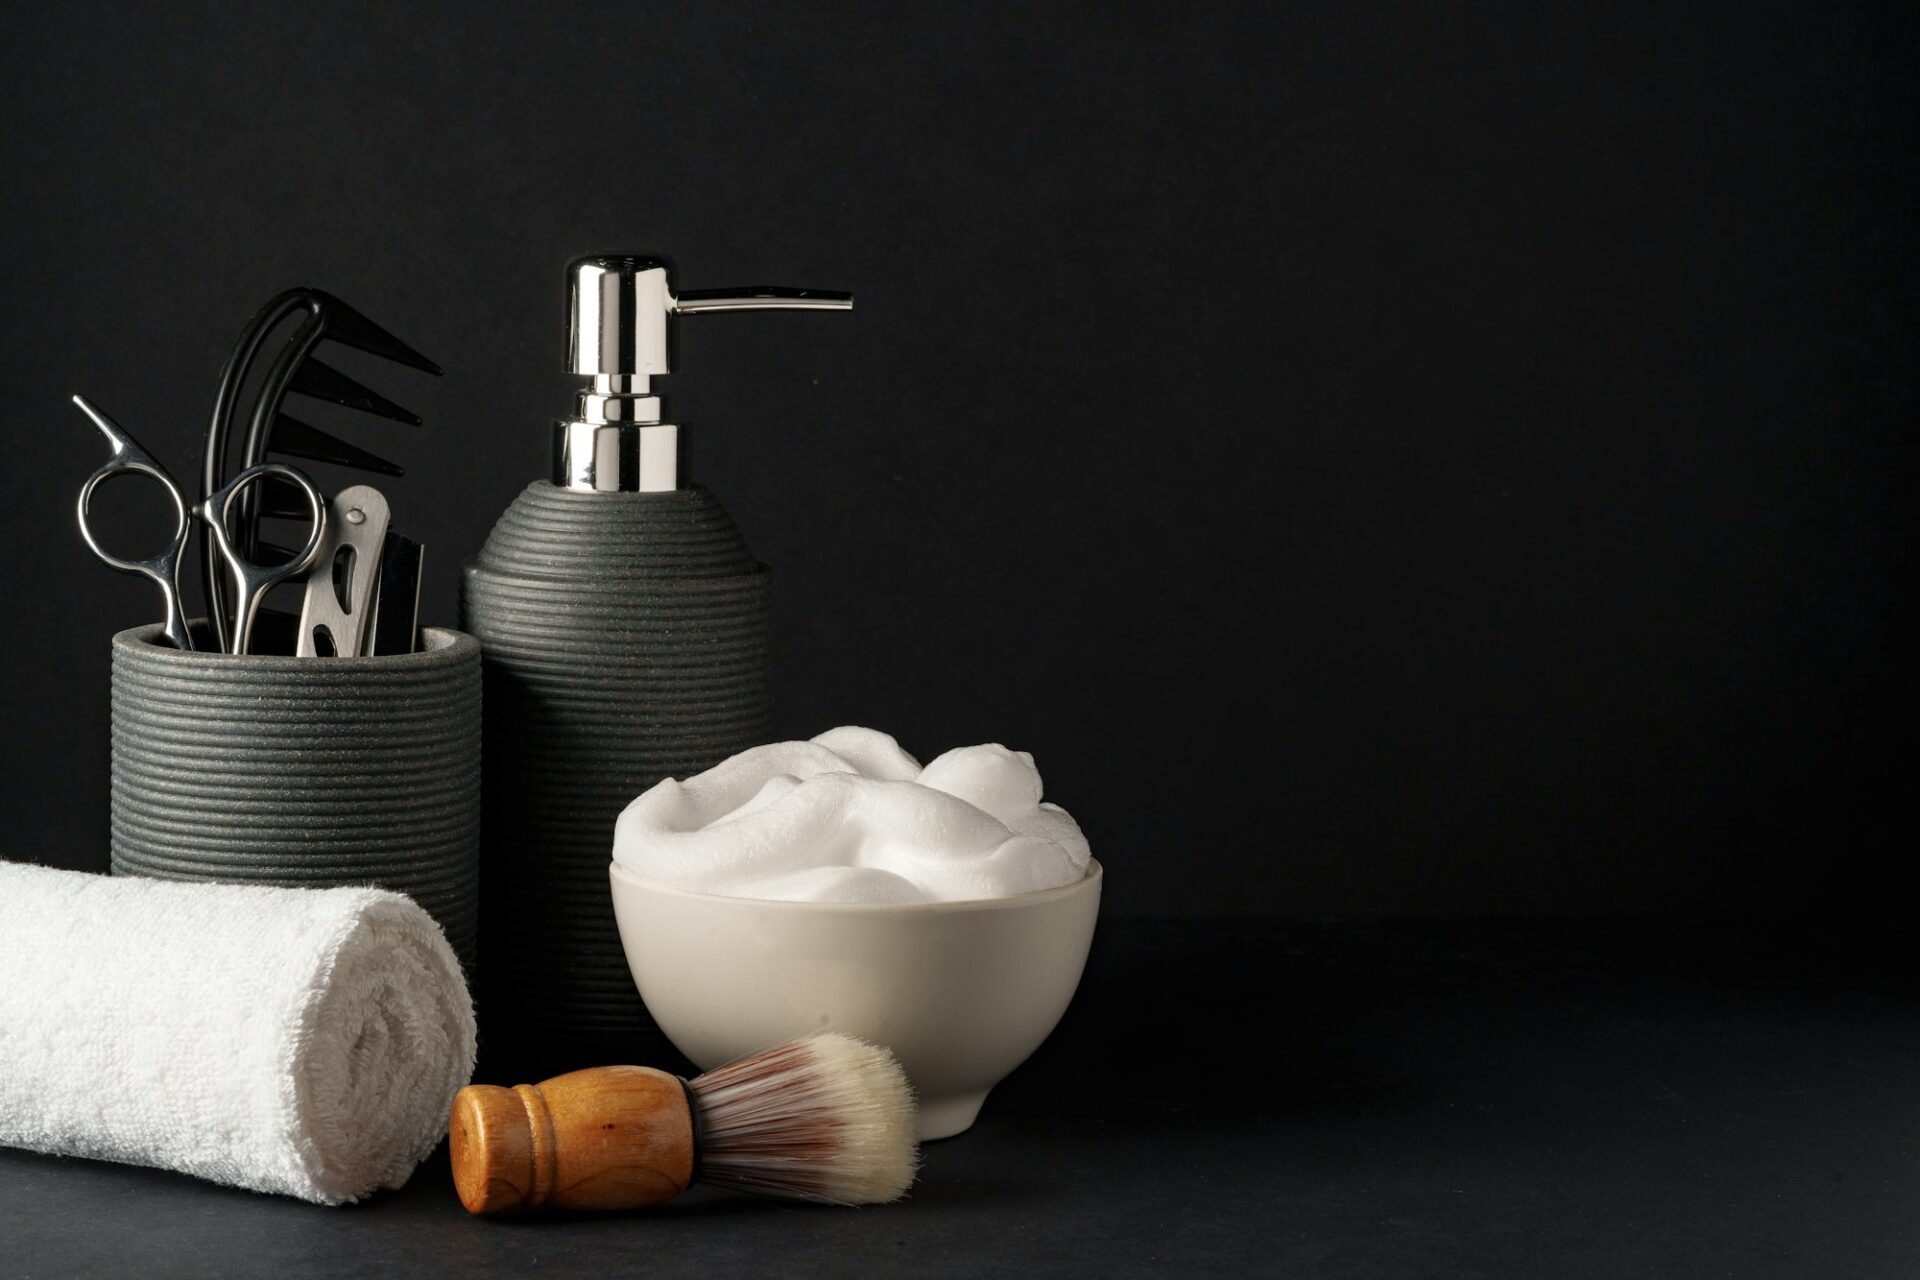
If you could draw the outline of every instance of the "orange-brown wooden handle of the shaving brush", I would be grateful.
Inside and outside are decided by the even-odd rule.
[[[468,1213],[515,1205],[637,1209],[693,1180],[693,1115],[680,1077],[589,1067],[540,1084],[468,1084],[449,1123],[453,1186]]]

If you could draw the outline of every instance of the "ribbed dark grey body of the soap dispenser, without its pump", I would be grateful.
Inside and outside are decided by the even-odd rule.
[[[620,810],[772,733],[768,572],[701,487],[530,486],[467,566],[486,666],[490,1052],[657,1040],[607,887]],[[578,1065],[566,1063],[561,1065]]]

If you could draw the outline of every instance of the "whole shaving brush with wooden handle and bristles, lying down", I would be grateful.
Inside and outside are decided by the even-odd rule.
[[[468,1213],[639,1209],[693,1182],[877,1205],[914,1182],[914,1094],[887,1050],[822,1032],[684,1080],[588,1067],[540,1084],[468,1084],[449,1123]]]

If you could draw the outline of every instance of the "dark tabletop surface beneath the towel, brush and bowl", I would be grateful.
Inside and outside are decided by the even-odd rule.
[[[1880,929],[1106,919],[910,1201],[470,1219],[0,1151],[0,1274],[1920,1274]]]

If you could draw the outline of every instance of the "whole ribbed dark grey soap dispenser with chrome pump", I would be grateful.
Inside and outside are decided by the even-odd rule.
[[[653,257],[582,257],[568,280],[570,368],[591,386],[461,591],[486,672],[486,1038],[536,1071],[664,1046],[614,927],[614,818],[772,735],[768,570],[720,499],[684,482],[651,384],[672,372],[674,317],[852,307],[812,290],[676,294]]]

